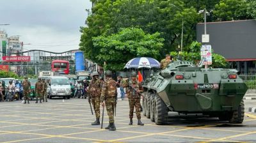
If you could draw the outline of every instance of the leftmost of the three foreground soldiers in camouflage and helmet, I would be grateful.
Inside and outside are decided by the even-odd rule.
[[[100,80],[98,79],[99,73],[92,73],[92,80],[89,85],[88,93],[89,93],[89,103],[92,101],[93,109],[96,116],[96,121],[92,123],[92,125],[100,124]]]

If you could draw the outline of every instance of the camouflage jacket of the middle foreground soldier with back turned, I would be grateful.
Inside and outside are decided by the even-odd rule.
[[[111,78],[107,79],[102,85],[100,102],[103,102],[106,98],[115,97],[116,93],[116,81]]]

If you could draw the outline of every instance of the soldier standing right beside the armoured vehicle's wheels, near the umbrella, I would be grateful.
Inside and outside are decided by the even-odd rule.
[[[129,125],[132,125],[132,118],[133,118],[133,110],[135,107],[136,110],[136,116],[138,118],[138,125],[143,126],[144,124],[141,123],[141,116],[140,116],[140,93],[143,92],[143,88],[136,79],[136,72],[132,72],[132,80],[129,81],[129,90],[128,90],[128,99],[129,99],[129,107],[130,107],[130,112],[129,112],[129,117],[130,117],[130,123]]]

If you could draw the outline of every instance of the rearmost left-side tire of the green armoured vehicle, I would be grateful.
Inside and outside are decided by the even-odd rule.
[[[155,123],[157,125],[165,124],[168,119],[168,109],[159,95],[155,96],[156,108],[155,108]]]

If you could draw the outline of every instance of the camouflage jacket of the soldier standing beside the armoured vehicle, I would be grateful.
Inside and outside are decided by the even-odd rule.
[[[132,88],[133,87],[133,88]],[[129,89],[128,89],[128,98],[129,99],[140,99],[140,94],[137,93],[138,90],[143,90],[140,82],[138,80],[130,80],[129,81]]]

